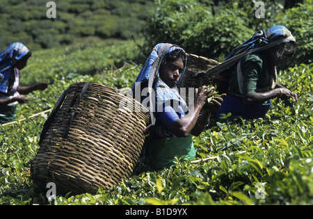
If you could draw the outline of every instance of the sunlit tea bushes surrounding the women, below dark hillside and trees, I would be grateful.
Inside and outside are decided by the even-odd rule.
[[[143,62],[133,42],[106,41],[34,51],[22,84],[49,81],[18,108],[17,119],[53,108],[76,81],[131,87]],[[139,64],[136,64],[139,63]],[[313,204],[313,65],[280,71],[279,83],[298,94],[298,103],[274,99],[264,119],[211,122],[194,137],[195,160],[144,172],[96,195],[48,200],[30,177],[38,151],[41,113],[0,126],[0,204]]]

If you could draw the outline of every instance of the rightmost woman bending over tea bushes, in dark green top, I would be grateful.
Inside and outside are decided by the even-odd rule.
[[[271,105],[271,99],[294,99],[297,95],[277,83],[276,66],[287,63],[294,55],[296,40],[284,26],[273,26],[266,32],[259,31],[253,37],[232,51],[228,58],[232,58],[240,51],[248,51],[268,44],[276,44],[257,54],[249,54],[237,63],[230,87],[223,105],[217,111],[221,114],[232,113],[233,117],[254,119],[264,117]],[[242,49],[243,48],[243,49]],[[248,49],[246,49],[248,48]]]

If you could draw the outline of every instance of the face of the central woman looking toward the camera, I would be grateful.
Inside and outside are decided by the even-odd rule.
[[[182,58],[179,58],[172,62],[167,62],[161,65],[159,74],[160,78],[164,83],[166,83],[170,88],[174,88],[179,79],[182,77],[182,72],[184,71],[184,62]]]

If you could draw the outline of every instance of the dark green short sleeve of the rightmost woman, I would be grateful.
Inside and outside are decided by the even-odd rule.
[[[262,64],[263,60],[257,55],[248,55],[241,61],[243,95],[256,92],[257,81],[262,72]]]

